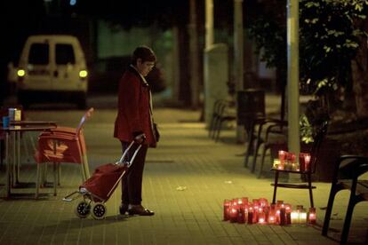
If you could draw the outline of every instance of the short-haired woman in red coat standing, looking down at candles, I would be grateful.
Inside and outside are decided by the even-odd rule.
[[[123,152],[133,140],[135,144],[130,155],[140,144],[132,166],[122,179],[122,203],[120,214],[151,216],[154,212],[141,205],[142,176],[148,147],[156,147],[158,135],[154,129],[152,100],[145,76],[155,66],[156,55],[147,46],[139,46],[133,51],[132,64],[119,82],[118,111],[114,137],[121,141]]]

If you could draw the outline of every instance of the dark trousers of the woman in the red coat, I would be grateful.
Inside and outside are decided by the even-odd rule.
[[[123,153],[129,146],[129,142],[121,141]],[[134,144],[126,154],[125,160],[131,160],[132,155],[139,145]],[[129,170],[124,174],[122,178],[122,203],[139,205],[142,202],[142,178],[144,163],[146,162],[146,154],[148,151],[148,145],[142,145],[140,151],[135,156]]]

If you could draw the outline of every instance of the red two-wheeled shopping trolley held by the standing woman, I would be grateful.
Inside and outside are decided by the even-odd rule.
[[[83,197],[83,201],[76,205],[75,211],[77,217],[84,218],[90,213],[95,219],[102,219],[106,216],[107,209],[105,202],[114,193],[119,181],[130,168],[135,156],[140,150],[141,145],[135,149],[129,160],[125,160],[125,156],[131,150],[133,144],[134,141],[126,148],[118,162],[106,163],[97,167],[92,177],[85,180],[79,186],[79,190],[63,198],[63,201],[71,202],[79,197]]]

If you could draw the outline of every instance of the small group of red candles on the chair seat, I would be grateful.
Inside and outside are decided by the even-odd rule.
[[[296,160],[294,153],[278,151],[278,159],[274,160],[275,170],[308,171],[310,170],[310,154],[300,153],[299,161]]]

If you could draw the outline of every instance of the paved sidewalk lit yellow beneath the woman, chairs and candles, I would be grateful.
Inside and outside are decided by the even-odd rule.
[[[44,116],[63,121],[58,112],[33,111],[32,119]],[[71,111],[70,114],[81,114]],[[120,146],[112,138],[113,110],[96,110],[86,124],[90,168],[115,162]],[[221,141],[208,138],[199,112],[160,108],[156,122],[161,142],[148,151],[143,183],[143,205],[153,209],[153,217],[117,215],[120,186],[107,202],[108,217],[80,219],[74,209],[78,201],[61,198],[80,185],[79,167],[63,164],[58,196],[34,200],[34,188],[15,190],[11,200],[0,199],[0,244],[338,244],[348,203],[348,192],[337,196],[333,209],[330,237],[321,235],[330,185],[316,183],[317,225],[240,225],[222,221],[224,199],[246,196],[249,199],[272,198],[272,178],[256,178],[244,168],[244,146],[236,144],[234,130],[221,133]],[[21,182],[34,183],[36,164],[23,157]],[[51,171],[50,171],[51,172]],[[51,175],[48,178],[52,179]],[[4,169],[0,173],[4,183]],[[52,188],[42,189],[52,193]],[[0,186],[4,196],[4,188]],[[306,190],[280,189],[278,199],[308,207]],[[367,203],[356,206],[349,241],[367,242]]]

